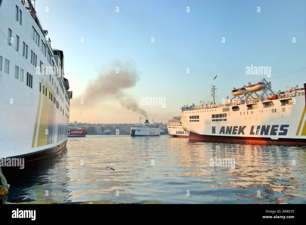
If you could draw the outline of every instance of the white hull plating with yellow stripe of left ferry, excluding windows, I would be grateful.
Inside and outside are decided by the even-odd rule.
[[[27,2],[27,1],[25,1]],[[22,11],[22,26],[15,19],[16,6]],[[48,65],[46,56],[40,50],[41,40],[47,44],[47,51],[51,59],[56,61],[52,49],[43,36],[38,24],[19,0],[5,0],[0,6],[0,56],[2,69],[0,69],[0,158],[25,158],[33,161],[54,155],[66,147],[69,111],[65,110],[68,102],[64,98],[67,92],[59,90],[60,99],[55,86],[51,84],[49,75],[37,75],[35,66],[30,62],[31,50],[37,55],[37,64],[43,61]],[[31,38],[32,26],[39,34],[38,46]],[[13,43],[8,44],[6,37],[8,30],[12,30]],[[16,51],[16,36],[19,36],[19,51]],[[28,45],[28,58],[22,56],[23,42]],[[6,73],[5,59],[9,60],[9,71]],[[15,66],[19,74],[15,78]],[[49,65],[48,65],[49,66]],[[21,69],[23,79],[21,79]],[[27,73],[32,77],[32,85],[27,84]],[[59,87],[59,81],[52,75],[52,79]],[[59,78],[61,81],[62,78]],[[39,90],[41,83],[41,91]],[[47,92],[43,94],[43,87]],[[56,96],[58,107],[49,99]],[[69,101],[69,100],[68,100]],[[66,113],[66,114],[65,114]],[[66,116],[64,116],[64,115]]]

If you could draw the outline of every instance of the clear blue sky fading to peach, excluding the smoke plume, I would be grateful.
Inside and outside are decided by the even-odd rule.
[[[231,93],[223,89],[240,88],[264,77],[246,75],[245,67],[251,64],[271,66],[270,78],[306,67],[306,1],[45,0],[35,4],[52,48],[64,52],[65,77],[74,96],[85,91],[102,66],[132,59],[141,75],[126,92],[139,104],[146,95],[166,98],[165,108],[143,106],[156,122],[179,115],[182,104],[198,104],[211,85],[224,98]],[[272,89],[302,86],[305,74],[306,69],[273,79]],[[118,112],[114,99],[103,103],[114,105],[110,111],[99,110],[96,117],[95,109],[86,117],[73,111],[76,101],[72,99],[70,121],[136,122],[139,118],[132,112]]]

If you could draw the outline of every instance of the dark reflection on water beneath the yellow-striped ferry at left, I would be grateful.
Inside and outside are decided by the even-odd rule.
[[[39,161],[25,163],[24,169],[7,167],[3,171],[10,184],[8,202],[66,201],[71,196],[67,150]],[[46,192],[47,191],[47,192]]]

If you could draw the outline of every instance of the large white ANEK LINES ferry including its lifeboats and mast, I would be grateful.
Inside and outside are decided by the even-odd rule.
[[[240,101],[181,107],[181,123],[184,130],[189,130],[189,139],[306,144],[304,88],[276,93],[271,90],[271,82],[263,81],[264,85],[255,84],[250,90],[252,94],[246,91]],[[212,89],[214,96],[215,87]]]

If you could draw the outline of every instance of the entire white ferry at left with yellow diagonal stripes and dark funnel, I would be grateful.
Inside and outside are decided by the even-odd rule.
[[[46,40],[30,0],[0,2],[0,158],[35,160],[66,146],[64,55]]]

